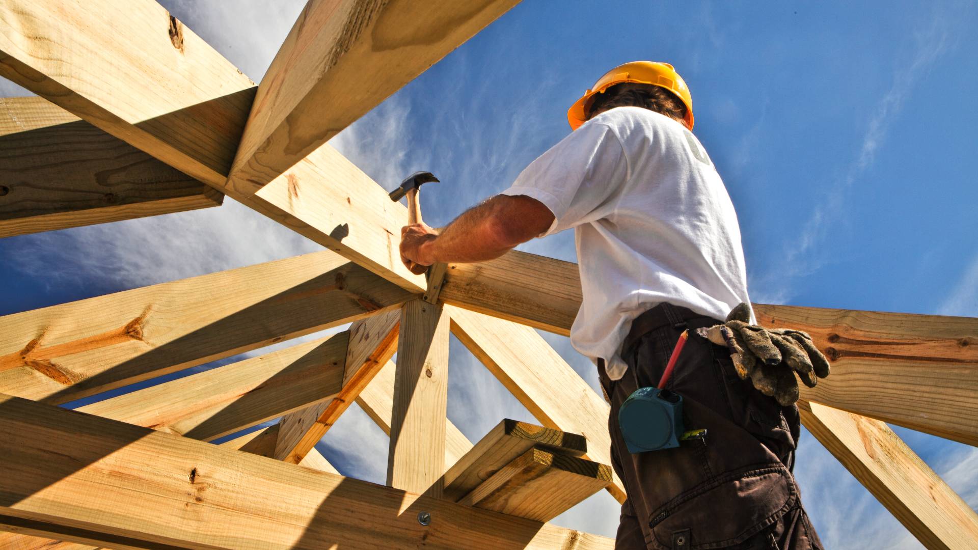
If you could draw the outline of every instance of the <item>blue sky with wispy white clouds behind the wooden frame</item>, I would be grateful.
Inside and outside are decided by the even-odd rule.
[[[162,3],[257,81],[304,2]],[[434,172],[444,183],[422,207],[443,224],[565,136],[567,107],[602,72],[666,61],[736,206],[752,298],[978,316],[976,26],[970,2],[525,0],[333,145],[388,189]],[[24,94],[7,82],[0,93]],[[575,259],[569,232],[521,248]],[[0,314],[316,250],[230,199],[4,239]],[[596,384],[566,339],[545,337]],[[532,420],[457,342],[452,358],[449,416],[469,438]],[[978,451],[896,430],[978,507]],[[386,444],[351,409],[320,448],[341,472],[382,481]],[[826,547],[920,547],[810,435],[796,474]],[[603,493],[557,520],[603,534],[616,522]]]

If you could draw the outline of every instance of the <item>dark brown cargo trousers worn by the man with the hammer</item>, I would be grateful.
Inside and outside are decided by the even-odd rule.
[[[615,548],[822,550],[791,475],[798,409],[741,381],[726,348],[692,335],[719,322],[662,303],[633,323],[622,354],[629,371],[621,380],[609,380],[599,364],[611,401],[611,458],[628,493]],[[689,341],[666,388],[683,395],[685,429],[706,435],[631,454],[618,408],[633,391],[658,384],[687,328]]]

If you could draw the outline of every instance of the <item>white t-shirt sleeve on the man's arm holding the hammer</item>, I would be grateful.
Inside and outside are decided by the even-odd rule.
[[[554,212],[545,237],[595,221],[614,206],[628,178],[628,160],[614,130],[592,121],[527,166],[503,195],[525,195]]]

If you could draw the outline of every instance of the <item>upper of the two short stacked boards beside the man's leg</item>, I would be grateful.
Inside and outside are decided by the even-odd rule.
[[[493,473],[538,445],[569,456],[582,456],[588,450],[588,442],[582,435],[503,419],[445,472],[442,496],[453,502],[462,500]]]

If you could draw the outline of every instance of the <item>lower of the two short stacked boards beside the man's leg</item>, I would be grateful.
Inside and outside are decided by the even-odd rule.
[[[611,482],[611,467],[532,447],[459,502],[549,522]]]

